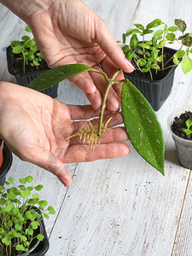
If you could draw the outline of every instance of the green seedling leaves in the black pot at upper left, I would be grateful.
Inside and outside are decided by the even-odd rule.
[[[32,32],[29,26],[26,26],[26,32]],[[44,56],[39,52],[34,38],[31,39],[28,36],[23,36],[21,40],[22,41],[11,41],[10,46],[14,54],[21,55],[17,60],[23,60],[23,72],[26,72],[26,65],[29,61],[38,69]]]

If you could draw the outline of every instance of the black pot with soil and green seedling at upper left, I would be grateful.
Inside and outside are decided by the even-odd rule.
[[[26,26],[26,32],[32,32]],[[49,69],[44,56],[38,49],[34,38],[23,36],[21,41],[11,41],[7,48],[7,62],[9,73],[15,76],[17,84],[27,86],[40,73]],[[55,98],[57,96],[58,84],[43,91],[44,94]]]

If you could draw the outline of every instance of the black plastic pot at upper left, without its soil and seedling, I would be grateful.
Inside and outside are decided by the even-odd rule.
[[[49,67],[48,67],[45,70],[37,70],[34,72],[30,72],[30,73],[16,74],[13,64],[12,64],[12,55],[13,55],[12,48],[9,45],[9,47],[7,48],[8,70],[9,70],[10,74],[15,76],[16,82],[19,85],[27,86],[28,84],[30,84],[32,82],[32,80],[36,79],[39,74],[44,73],[45,71],[49,70]],[[48,96],[51,96],[52,98],[55,98],[55,97],[57,97],[58,85],[59,84],[55,84],[55,85],[51,86],[50,88],[43,90],[42,92]]]

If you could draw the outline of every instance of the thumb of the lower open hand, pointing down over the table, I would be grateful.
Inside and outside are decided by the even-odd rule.
[[[52,172],[59,178],[64,186],[68,187],[72,183],[72,177],[68,172],[67,166],[65,166],[53,152],[44,149],[38,150],[38,153],[35,155],[33,152],[32,158],[28,159],[28,161]]]

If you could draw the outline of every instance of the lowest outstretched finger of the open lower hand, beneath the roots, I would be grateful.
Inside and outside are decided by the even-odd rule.
[[[130,148],[125,143],[100,144],[94,150],[90,150],[90,145],[73,145],[67,148],[63,161],[66,163],[88,162],[123,157],[129,153]]]

